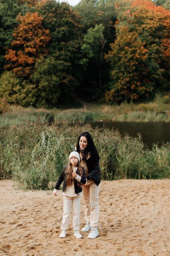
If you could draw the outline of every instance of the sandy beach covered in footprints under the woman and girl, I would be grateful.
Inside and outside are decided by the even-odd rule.
[[[170,180],[117,180],[100,184],[96,239],[75,238],[72,215],[61,232],[63,196],[16,190],[0,181],[0,256],[170,256]],[[81,201],[81,228],[85,225]]]

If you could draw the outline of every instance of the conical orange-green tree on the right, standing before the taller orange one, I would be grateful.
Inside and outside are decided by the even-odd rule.
[[[153,90],[146,72],[148,50],[136,32],[129,32],[122,26],[115,44],[111,45],[111,51],[105,57],[112,67],[111,90],[106,94],[107,100],[134,100]]]

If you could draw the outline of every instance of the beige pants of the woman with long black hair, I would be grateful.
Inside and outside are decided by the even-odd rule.
[[[90,186],[82,186],[83,200],[85,203],[85,220],[90,223],[91,227],[98,227],[99,218],[99,189],[100,185],[96,185],[94,182]]]

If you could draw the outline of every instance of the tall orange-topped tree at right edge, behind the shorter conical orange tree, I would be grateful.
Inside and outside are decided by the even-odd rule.
[[[122,21],[129,23],[129,31],[137,31],[149,50],[148,74],[155,90],[167,90],[170,85],[170,11],[150,1],[135,0]]]

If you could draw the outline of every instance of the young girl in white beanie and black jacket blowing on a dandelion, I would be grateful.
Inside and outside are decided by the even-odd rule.
[[[76,238],[82,238],[82,235],[79,232],[79,213],[82,194],[81,184],[86,183],[86,178],[85,169],[80,165],[80,156],[76,151],[70,153],[69,164],[64,167],[56,185],[54,186],[54,195],[57,195],[62,182],[63,220],[61,225],[62,231],[59,237],[65,238],[72,209],[74,236],[76,236]]]

